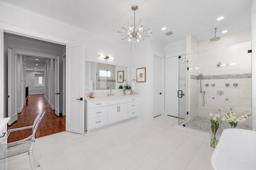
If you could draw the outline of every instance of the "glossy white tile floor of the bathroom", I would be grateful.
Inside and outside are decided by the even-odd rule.
[[[175,129],[177,122],[135,118],[88,134],[40,137],[37,170],[212,170],[210,140]],[[30,170],[28,155],[9,158],[8,170]]]

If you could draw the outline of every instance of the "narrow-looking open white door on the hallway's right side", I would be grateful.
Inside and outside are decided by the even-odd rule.
[[[60,116],[60,57],[55,58],[55,114]]]

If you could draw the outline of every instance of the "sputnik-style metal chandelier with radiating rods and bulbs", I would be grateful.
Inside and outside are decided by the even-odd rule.
[[[138,48],[138,42],[139,41],[144,41],[146,37],[150,37],[152,34],[152,31],[149,29],[146,29],[143,31],[143,26],[140,26],[140,22],[138,25],[135,25],[135,11],[138,10],[138,6],[133,5],[132,10],[134,11],[134,23],[132,25],[129,25],[129,29],[126,29],[122,27],[122,31],[117,31],[118,32],[118,37],[124,37],[122,38],[122,43],[128,41],[130,45],[130,50],[132,49],[132,46]]]

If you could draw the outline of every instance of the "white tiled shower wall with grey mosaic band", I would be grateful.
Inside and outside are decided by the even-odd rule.
[[[190,82],[196,83],[198,94],[198,101],[191,100],[190,106],[197,104],[197,116],[208,118],[209,113],[218,113],[218,109],[229,111],[230,107],[240,115],[252,113],[252,53],[248,53],[250,49],[251,30],[223,36],[220,41],[198,43],[198,53],[191,53],[188,58],[190,68],[193,68],[189,70]],[[219,62],[227,66],[216,66]],[[228,66],[232,63],[236,64]],[[206,92],[204,106],[199,74],[203,74],[202,91]],[[211,86],[213,83],[214,87]],[[230,86],[226,87],[226,83]],[[234,87],[234,83],[238,86]],[[209,86],[206,87],[205,84]],[[222,90],[224,94],[219,96],[218,90]],[[194,114],[192,117],[195,116]],[[251,121],[250,117],[243,124],[251,127]]]

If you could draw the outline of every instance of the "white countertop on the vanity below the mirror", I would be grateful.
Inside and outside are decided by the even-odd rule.
[[[114,94],[114,96],[107,96],[105,95],[99,95],[99,94],[95,94],[94,98],[90,98],[90,96],[88,96],[88,94],[84,95],[84,100],[89,102],[89,101],[97,101],[97,100],[112,100],[112,99],[119,99],[119,98],[132,98],[132,97],[138,97],[140,96],[139,93],[131,93],[129,95],[125,95],[124,92],[122,93],[116,93]]]

